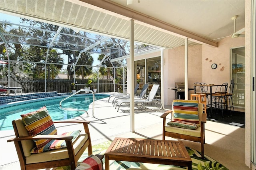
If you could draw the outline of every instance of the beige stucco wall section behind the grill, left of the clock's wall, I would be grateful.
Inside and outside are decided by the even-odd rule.
[[[167,51],[167,52],[166,52]],[[175,87],[175,82],[184,82],[185,79],[185,49],[184,46],[166,50],[164,54],[164,81],[167,81],[164,104],[172,105],[175,91],[168,89]],[[188,87],[195,82],[202,82],[202,45],[188,47]],[[192,93],[193,91],[189,91]]]

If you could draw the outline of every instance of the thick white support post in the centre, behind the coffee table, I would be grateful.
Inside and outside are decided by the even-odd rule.
[[[130,20],[130,57],[129,57],[130,77],[134,75],[134,20]],[[127,87],[130,90],[130,131],[134,132],[134,78],[130,79],[130,85]]]

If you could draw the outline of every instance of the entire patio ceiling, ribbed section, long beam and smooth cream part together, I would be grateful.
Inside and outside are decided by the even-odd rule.
[[[184,45],[184,38],[188,38],[188,45],[217,47],[212,39],[234,32],[234,15],[239,16],[236,30],[244,28],[244,0],[131,2],[1,0],[0,12],[123,40],[129,40],[129,20],[134,19],[134,40],[163,48]],[[60,47],[66,48],[63,43]]]

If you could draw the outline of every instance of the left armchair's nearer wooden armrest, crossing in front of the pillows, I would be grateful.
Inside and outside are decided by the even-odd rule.
[[[15,137],[7,140],[7,142],[17,142],[21,140],[38,140],[38,139],[50,139],[50,140],[66,140],[71,141],[73,136],[65,135],[35,135],[35,136],[24,136],[24,137]]]

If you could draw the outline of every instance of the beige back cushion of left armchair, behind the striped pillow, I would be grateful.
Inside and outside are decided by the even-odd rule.
[[[26,129],[22,119],[12,121],[12,126],[14,128],[16,137],[29,136],[28,130]],[[24,156],[30,156],[30,150],[36,146],[33,140],[22,140],[21,141],[22,150]]]

